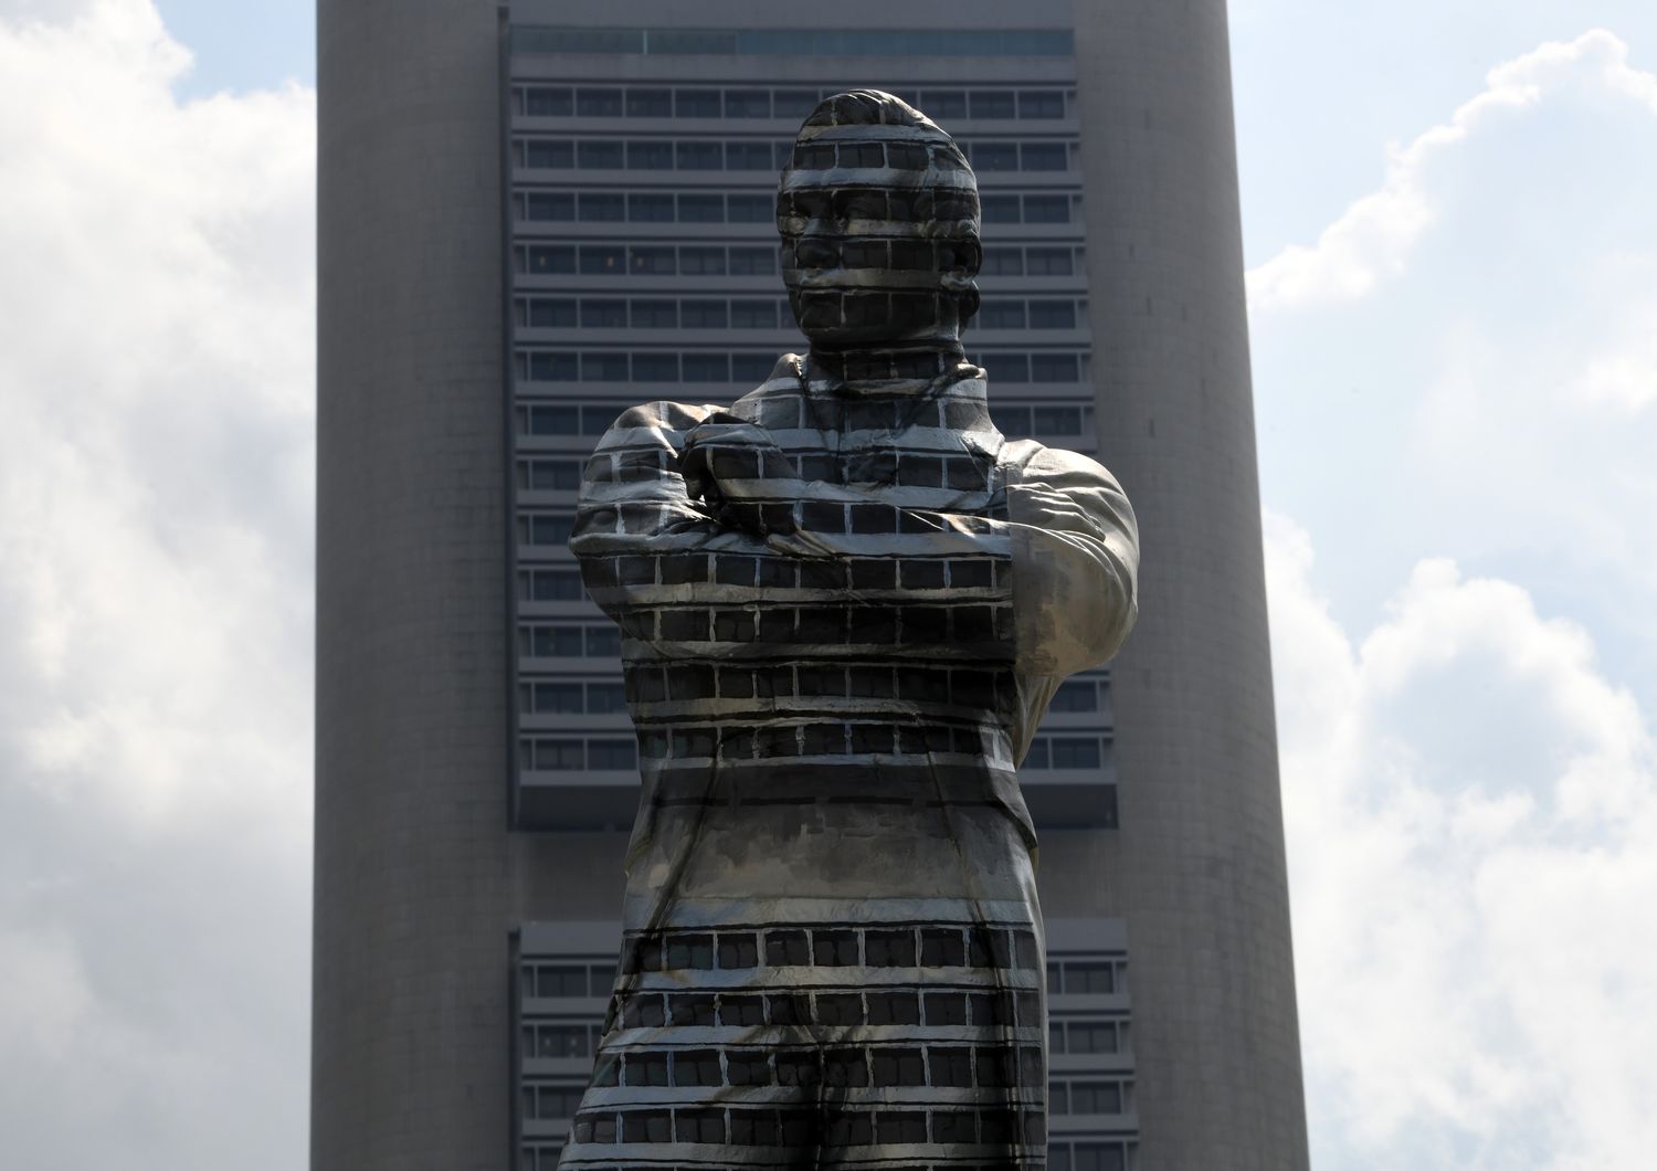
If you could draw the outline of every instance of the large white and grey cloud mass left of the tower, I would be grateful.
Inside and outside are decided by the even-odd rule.
[[[0,1133],[297,1166],[315,96],[0,7]]]

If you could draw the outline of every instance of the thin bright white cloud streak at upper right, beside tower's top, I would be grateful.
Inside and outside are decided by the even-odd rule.
[[[1258,315],[1355,300],[1405,270],[1412,250],[1443,210],[1433,167],[1471,134],[1501,118],[1534,109],[1568,89],[1602,89],[1657,114],[1657,75],[1629,65],[1629,46],[1606,30],[1549,41],[1496,66],[1483,93],[1450,121],[1405,147],[1392,147],[1380,190],[1354,202],[1314,245],[1291,245],[1249,270],[1249,306]]]

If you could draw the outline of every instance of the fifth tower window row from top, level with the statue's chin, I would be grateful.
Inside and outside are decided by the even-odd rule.
[[[782,298],[519,296],[517,323],[530,330],[792,330]],[[1075,298],[1017,296],[984,301],[974,318],[986,330],[1074,330],[1085,313]]]

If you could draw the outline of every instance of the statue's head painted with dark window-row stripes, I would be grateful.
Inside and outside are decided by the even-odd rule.
[[[878,89],[822,101],[777,189],[782,280],[819,349],[953,341],[978,311],[978,181],[926,114]]]

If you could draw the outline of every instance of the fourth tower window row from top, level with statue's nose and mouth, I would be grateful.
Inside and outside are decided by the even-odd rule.
[[[525,277],[766,277],[777,272],[777,250],[717,243],[520,243],[514,270]],[[1075,245],[984,248],[981,277],[1072,277],[1082,270]]]

